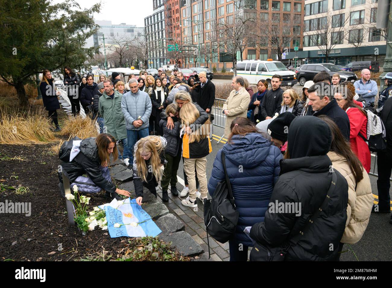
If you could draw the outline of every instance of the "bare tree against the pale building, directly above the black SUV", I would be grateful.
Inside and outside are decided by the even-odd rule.
[[[347,34],[345,24],[350,21],[350,11],[345,14],[336,14],[335,12],[330,9],[321,17],[310,20],[309,26],[305,25],[305,28],[309,27],[309,31],[305,32],[305,41],[309,39],[310,45],[317,46],[325,55],[326,62],[328,62],[331,50],[336,45],[343,44]]]

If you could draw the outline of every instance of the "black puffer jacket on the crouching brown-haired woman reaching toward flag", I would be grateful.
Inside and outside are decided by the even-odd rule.
[[[116,191],[116,186],[102,176],[101,159],[98,156],[98,146],[95,142],[95,137],[82,140],[78,155],[71,162],[61,161],[60,165],[71,183],[78,176],[86,174],[95,185],[106,192],[113,193]],[[58,178],[63,183],[61,172],[58,172]]]

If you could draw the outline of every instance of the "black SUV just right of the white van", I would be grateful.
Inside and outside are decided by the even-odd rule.
[[[305,64],[298,67],[297,79],[300,85],[304,85],[305,82],[313,80],[313,77],[319,72],[327,72],[332,75],[338,73],[340,75],[340,83],[345,81],[354,82],[357,80],[357,76],[354,72],[343,71],[338,66],[331,63],[320,63],[320,64]]]

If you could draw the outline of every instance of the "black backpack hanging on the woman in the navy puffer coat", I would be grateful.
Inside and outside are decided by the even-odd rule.
[[[226,171],[225,154],[222,154],[222,165],[225,180],[216,185],[214,196],[204,202],[204,224],[207,231],[208,249],[210,249],[208,234],[220,243],[226,243],[236,231],[238,216],[234,205],[229,176]]]

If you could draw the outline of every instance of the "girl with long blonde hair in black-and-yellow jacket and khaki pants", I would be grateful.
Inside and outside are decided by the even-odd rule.
[[[181,105],[180,118],[182,129],[180,137],[183,139],[182,157],[189,183],[189,196],[182,200],[181,203],[189,207],[197,207],[196,173],[199,181],[200,200],[207,199],[208,193],[205,170],[207,167],[206,156],[212,152],[209,136],[211,122],[207,118],[203,124],[196,125],[195,122],[199,117],[200,112],[191,101]]]

